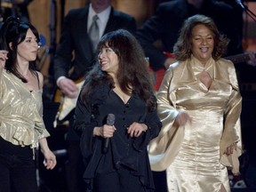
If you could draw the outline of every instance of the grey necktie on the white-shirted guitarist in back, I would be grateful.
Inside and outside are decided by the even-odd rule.
[[[89,29],[89,36],[92,41],[93,52],[95,52],[97,44],[99,43],[99,40],[100,40],[100,35],[99,35],[100,32],[99,32],[99,26],[98,26],[97,20],[99,20],[99,17],[96,14],[92,17],[92,25],[91,25],[91,28]]]

